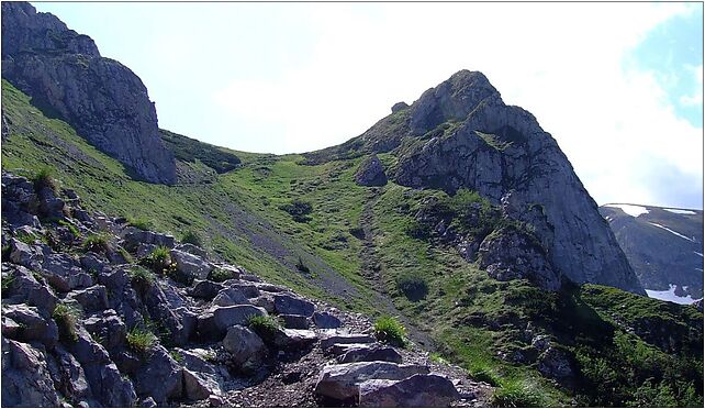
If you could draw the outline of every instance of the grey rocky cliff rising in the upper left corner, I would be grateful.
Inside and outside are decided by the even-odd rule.
[[[174,184],[176,163],[158,134],[142,80],[101,57],[93,41],[29,3],[2,3],[2,77],[51,117],[150,183]]]

